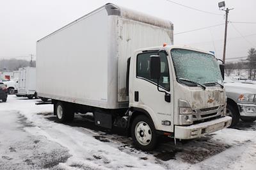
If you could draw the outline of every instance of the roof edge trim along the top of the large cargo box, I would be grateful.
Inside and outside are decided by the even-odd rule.
[[[153,16],[147,15],[145,13],[136,12],[134,10],[130,10],[130,9],[127,9],[127,8],[124,8],[121,6],[117,6],[112,3],[107,3],[104,6],[101,6],[100,8],[97,8],[96,10],[84,15],[83,17],[80,17],[79,19],[74,20],[73,22],[70,22],[66,26],[61,27],[60,29],[45,36],[44,38],[54,35],[55,33],[58,33],[58,31],[61,31],[62,29],[65,29],[66,27],[71,26],[72,24],[75,24],[75,23],[83,20],[84,18],[88,17],[89,15],[93,15],[94,13],[97,13],[104,8],[108,12],[108,15],[117,15],[117,16],[120,16],[125,19],[135,20],[135,21],[143,22],[143,23],[150,24],[153,26],[163,27],[164,29],[173,30],[173,24],[169,20],[159,19],[157,17],[153,17]],[[40,40],[43,40],[44,38],[41,38]],[[37,42],[40,42],[40,40],[38,40]]]

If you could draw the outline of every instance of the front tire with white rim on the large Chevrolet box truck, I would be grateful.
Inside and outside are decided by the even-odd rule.
[[[156,128],[147,116],[140,115],[134,118],[131,126],[131,135],[136,148],[143,151],[150,151],[156,148]]]

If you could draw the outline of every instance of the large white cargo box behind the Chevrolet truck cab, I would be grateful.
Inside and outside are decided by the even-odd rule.
[[[136,49],[163,43],[173,43],[170,21],[106,4],[38,40],[38,96],[108,109],[127,107],[127,59]]]

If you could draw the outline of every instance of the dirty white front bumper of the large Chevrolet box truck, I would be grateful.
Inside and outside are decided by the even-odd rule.
[[[193,139],[229,127],[231,121],[231,117],[225,116],[223,118],[198,123],[196,125],[175,126],[174,136],[177,139]]]

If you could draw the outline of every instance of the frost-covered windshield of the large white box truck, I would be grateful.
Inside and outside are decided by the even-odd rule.
[[[220,67],[211,54],[186,49],[172,49],[171,55],[178,81],[186,79],[199,84],[223,82]],[[189,85],[188,81],[182,81],[182,83]],[[212,86],[215,85],[212,84]]]

